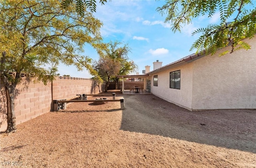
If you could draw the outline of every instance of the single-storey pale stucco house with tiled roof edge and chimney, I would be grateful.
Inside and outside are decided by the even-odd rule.
[[[147,88],[166,101],[189,110],[256,109],[256,38],[246,39],[249,50],[238,50],[219,57],[188,55],[146,72]],[[148,67],[145,67],[146,70]]]

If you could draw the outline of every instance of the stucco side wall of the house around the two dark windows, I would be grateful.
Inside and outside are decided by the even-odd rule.
[[[150,74],[151,93],[176,105],[192,108],[192,63],[186,63],[158,73]],[[180,89],[170,88],[170,72],[180,70]],[[158,75],[158,86],[153,76]]]

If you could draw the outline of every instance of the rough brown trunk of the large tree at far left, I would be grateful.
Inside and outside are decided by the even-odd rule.
[[[15,87],[13,85],[4,86],[6,93],[6,105],[7,105],[7,129],[6,132],[16,132],[16,117],[14,111],[14,94]]]

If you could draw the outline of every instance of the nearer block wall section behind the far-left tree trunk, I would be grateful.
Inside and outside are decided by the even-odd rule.
[[[50,111],[52,103],[51,83],[47,83],[47,85],[43,83],[28,83],[27,87],[25,87],[25,83],[20,83],[16,90],[14,111],[17,125]],[[3,131],[7,128],[7,116],[6,96],[2,83],[0,106],[0,131]]]

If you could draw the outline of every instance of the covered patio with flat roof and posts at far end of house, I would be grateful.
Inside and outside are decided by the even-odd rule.
[[[122,94],[126,94],[126,95],[135,95],[135,94],[151,94],[150,91],[148,91],[147,89],[147,78],[148,78],[148,74],[145,75],[117,75],[116,77],[118,77],[119,79],[122,79]],[[125,83],[125,79],[141,79],[141,81],[143,81],[143,86],[141,87],[126,87]],[[134,82],[128,82],[130,83],[136,83],[136,81]]]

